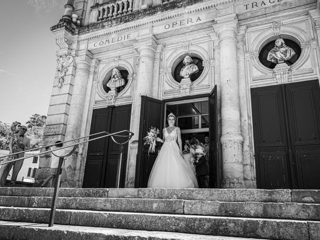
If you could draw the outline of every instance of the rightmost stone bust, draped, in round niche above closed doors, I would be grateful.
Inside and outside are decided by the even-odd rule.
[[[289,60],[294,54],[294,50],[285,45],[282,38],[277,38],[274,47],[269,51],[266,59],[274,63],[281,63]]]

